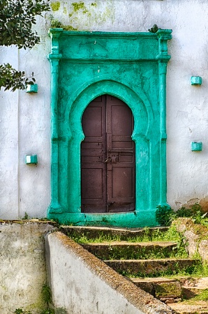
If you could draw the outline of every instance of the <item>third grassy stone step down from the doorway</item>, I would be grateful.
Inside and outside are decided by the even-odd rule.
[[[126,274],[126,276],[156,277],[161,273],[177,274],[179,270],[188,269],[191,272],[195,265],[200,263],[200,260],[171,258],[161,260],[104,260],[104,262],[115,271]]]

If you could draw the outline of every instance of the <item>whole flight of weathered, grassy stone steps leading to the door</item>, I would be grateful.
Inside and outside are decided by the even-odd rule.
[[[126,230],[107,227],[63,227],[64,233],[142,290],[180,314],[208,314],[208,278],[193,276],[200,260],[178,257],[177,241],[152,241],[168,228]],[[128,241],[126,241],[128,239]],[[142,241],[138,241],[142,240]],[[149,241],[148,241],[149,240]],[[181,275],[182,274],[182,275]],[[173,276],[174,275],[174,276]]]

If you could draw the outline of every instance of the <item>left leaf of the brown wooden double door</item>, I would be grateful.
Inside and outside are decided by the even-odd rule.
[[[82,116],[85,135],[81,146],[81,190],[83,212],[106,211],[105,97],[91,102]]]

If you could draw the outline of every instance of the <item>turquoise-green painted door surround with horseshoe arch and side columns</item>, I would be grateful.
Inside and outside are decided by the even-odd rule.
[[[52,201],[48,218],[77,225],[156,225],[156,206],[167,205],[165,84],[171,32],[50,29]],[[123,100],[134,116],[136,209],[131,213],[83,214],[80,209],[82,114],[102,94]]]

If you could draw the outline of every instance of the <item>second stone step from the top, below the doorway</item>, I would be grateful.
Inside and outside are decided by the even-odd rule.
[[[144,260],[157,255],[160,258],[170,257],[173,248],[177,247],[177,243],[173,241],[105,241],[103,243],[82,244],[82,246],[101,260],[135,260],[138,258]]]

